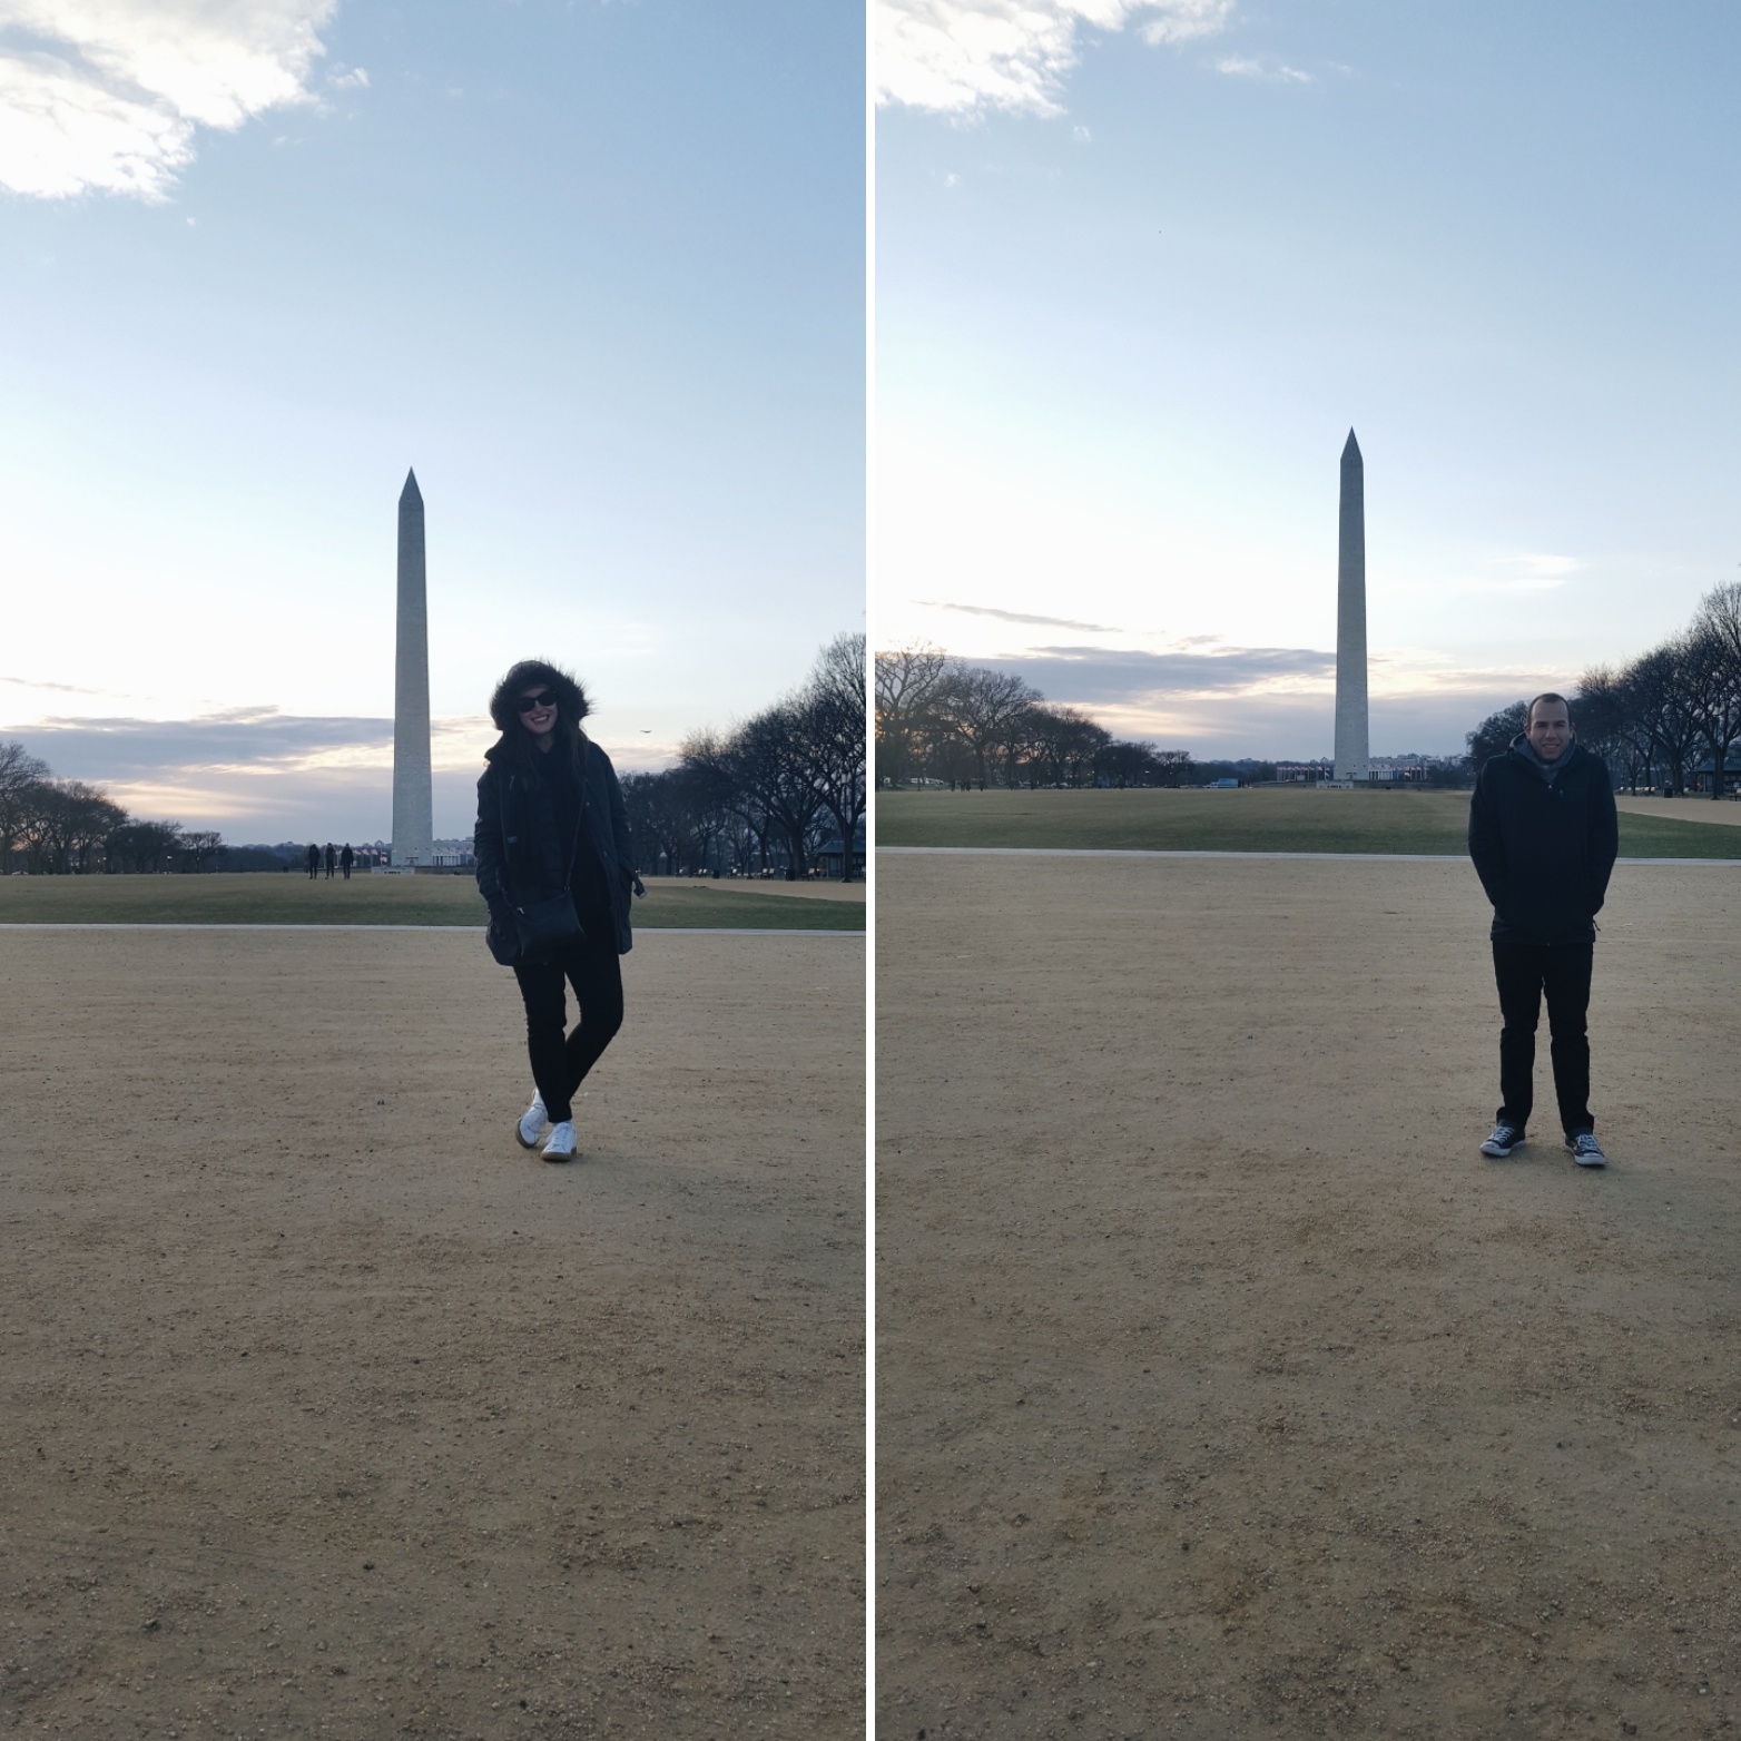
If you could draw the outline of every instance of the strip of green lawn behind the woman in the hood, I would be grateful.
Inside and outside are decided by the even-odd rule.
[[[310,883],[296,872],[219,876],[0,877],[0,924],[456,924],[481,926],[468,876],[353,876]],[[787,900],[707,883],[648,884],[634,923],[738,931],[862,931],[862,900]]]

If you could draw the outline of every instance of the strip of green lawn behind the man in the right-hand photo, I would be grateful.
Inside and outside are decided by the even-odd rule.
[[[1461,853],[1468,792],[879,792],[877,846]],[[1741,858],[1729,829],[1621,813],[1623,858]]]

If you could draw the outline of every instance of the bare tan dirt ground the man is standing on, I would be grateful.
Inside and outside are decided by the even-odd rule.
[[[1450,864],[884,857],[883,1741],[1741,1717],[1741,874],[1621,867],[1607,1172]]]

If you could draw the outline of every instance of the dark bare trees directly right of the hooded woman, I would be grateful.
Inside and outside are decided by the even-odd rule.
[[[864,855],[865,637],[836,635],[794,695],[731,731],[698,731],[676,768],[627,775],[623,803],[646,872],[796,879],[834,848],[851,881]]]

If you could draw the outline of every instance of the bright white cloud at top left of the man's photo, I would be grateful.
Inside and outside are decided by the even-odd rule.
[[[1062,115],[1076,33],[1142,21],[1151,44],[1213,37],[1233,0],[877,0],[877,101],[971,115]]]

